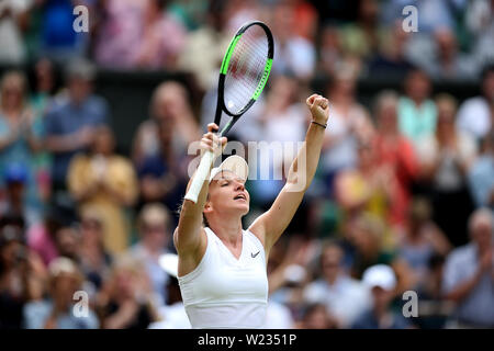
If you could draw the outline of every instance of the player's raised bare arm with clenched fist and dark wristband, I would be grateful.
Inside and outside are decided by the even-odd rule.
[[[305,191],[311,185],[319,161],[325,125],[329,117],[329,103],[327,99],[313,94],[306,100],[306,104],[312,114],[312,123],[305,135],[305,141],[290,167],[287,183],[271,208],[249,227],[263,244],[267,254],[292,220]]]

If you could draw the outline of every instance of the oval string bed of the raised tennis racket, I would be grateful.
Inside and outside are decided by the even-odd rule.
[[[268,50],[266,34],[257,26],[249,27],[237,42],[225,77],[225,106],[233,114],[252,98],[265,72]]]

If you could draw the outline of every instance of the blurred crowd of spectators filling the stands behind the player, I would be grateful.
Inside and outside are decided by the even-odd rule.
[[[78,4],[89,33],[72,29]],[[190,328],[172,256],[188,146],[214,114],[225,47],[254,19],[273,32],[273,72],[229,139],[303,140],[314,79],[330,101],[316,177],[269,259],[266,327],[494,328],[490,0],[2,0],[0,328]],[[122,154],[100,69],[190,72],[203,98],[161,82]],[[369,77],[402,87],[364,105]],[[479,91],[433,92],[451,80]],[[290,162],[259,159],[282,176],[248,181],[246,226]]]

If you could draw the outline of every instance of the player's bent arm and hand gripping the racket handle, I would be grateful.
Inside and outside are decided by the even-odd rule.
[[[226,137],[220,140],[213,131],[217,131],[217,125],[210,123],[207,125],[207,133],[201,139],[201,151],[213,151],[217,156],[221,147],[226,145]],[[187,189],[189,190],[193,177],[189,180]],[[202,257],[201,250],[205,249],[206,239],[204,228],[202,227],[202,212],[206,202],[209,190],[209,181],[204,181],[198,202],[193,203],[190,200],[184,200],[182,208],[180,210],[180,218],[177,229],[173,233],[173,244],[179,254],[179,275],[187,274],[192,271],[199,263]]]

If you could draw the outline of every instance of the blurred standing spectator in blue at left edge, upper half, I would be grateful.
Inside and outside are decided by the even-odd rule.
[[[41,201],[34,174],[32,171],[32,156],[40,150],[40,131],[33,124],[33,111],[27,104],[27,87],[23,73],[7,72],[0,82],[0,173],[2,183],[7,172],[15,172],[24,183],[21,193],[22,208],[25,208],[30,224],[40,217]],[[38,126],[37,126],[38,127]],[[13,170],[12,168],[15,168]],[[21,176],[22,173],[22,176]],[[12,205],[12,204],[11,204]]]

